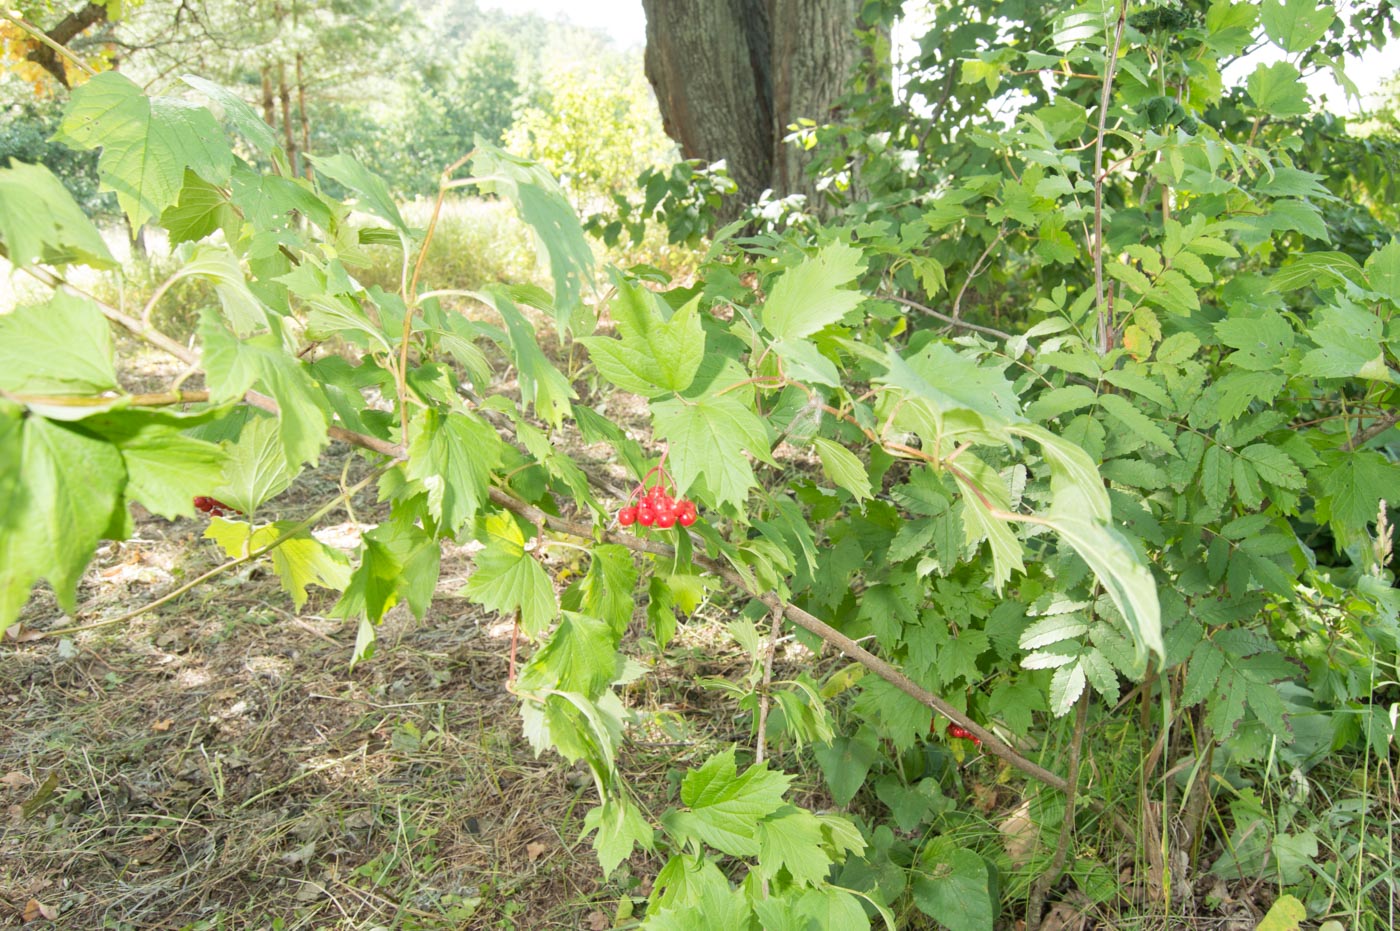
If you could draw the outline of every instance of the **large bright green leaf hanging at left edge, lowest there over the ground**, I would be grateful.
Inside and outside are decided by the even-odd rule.
[[[3,416],[3,412],[0,412]],[[39,578],[53,587],[59,608],[71,613],[77,585],[113,525],[126,483],[116,447],[43,417],[4,417],[0,462],[14,465],[22,482],[0,483],[0,631],[28,599]],[[15,455],[18,452],[18,455]]]

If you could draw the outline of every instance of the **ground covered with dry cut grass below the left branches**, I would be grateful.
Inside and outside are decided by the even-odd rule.
[[[332,451],[277,515],[330,497],[347,455]],[[377,518],[363,500],[356,515]],[[351,547],[357,526],[329,519],[344,522],[322,538]],[[510,626],[455,596],[459,549],[430,616],[391,612],[354,669],[354,623],[322,616],[335,594],[311,589],[294,616],[258,567],[127,623],[46,634],[217,564],[203,524],[139,519],[99,550],[77,620],[41,589],[0,647],[0,927],[606,928],[645,895],[626,865],[605,883],[580,840],[592,781],[522,738]],[[678,655],[690,679],[699,652]],[[666,770],[725,735],[671,714],[696,697],[658,672],[629,703],[662,725],[623,767],[659,812]],[[638,875],[659,868],[643,861]]]

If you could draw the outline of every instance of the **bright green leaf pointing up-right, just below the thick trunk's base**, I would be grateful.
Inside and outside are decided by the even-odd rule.
[[[861,251],[834,241],[784,272],[763,305],[763,326],[774,339],[809,336],[860,307],[865,295],[847,286],[865,270]]]

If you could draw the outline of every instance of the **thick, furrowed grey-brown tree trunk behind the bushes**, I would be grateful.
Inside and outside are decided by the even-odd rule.
[[[788,126],[829,122],[860,55],[860,0],[643,0],[647,78],[686,158],[725,160],[745,202],[815,193]]]

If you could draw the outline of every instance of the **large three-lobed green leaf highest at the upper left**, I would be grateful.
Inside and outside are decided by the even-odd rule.
[[[146,97],[119,71],[102,71],[73,90],[55,141],[102,148],[102,188],[116,192],[132,227],[179,199],[185,169],[225,183],[234,154],[213,115],[172,97]]]

